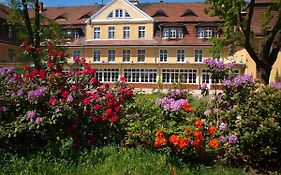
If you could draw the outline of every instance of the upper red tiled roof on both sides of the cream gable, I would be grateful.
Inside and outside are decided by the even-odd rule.
[[[44,14],[50,19],[56,19],[59,16],[63,16],[64,19],[56,20],[57,23],[62,25],[80,25],[84,24],[86,19],[82,18],[84,15],[93,15],[100,10],[103,5],[95,6],[69,6],[69,7],[47,7]],[[208,7],[203,2],[183,2],[183,3],[145,3],[138,4],[138,8],[151,16],[156,22],[198,22],[198,21],[218,21],[217,17],[211,17],[206,15],[203,10]],[[183,16],[186,11],[192,11],[196,16]],[[155,16],[157,11],[164,12],[165,16]],[[34,16],[32,10],[30,10],[31,16]]]

